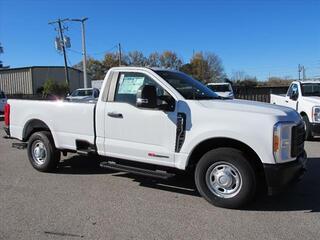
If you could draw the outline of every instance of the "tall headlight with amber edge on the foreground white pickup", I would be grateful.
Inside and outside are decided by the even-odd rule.
[[[276,162],[292,160],[291,131],[294,122],[278,122],[273,127],[273,155]]]

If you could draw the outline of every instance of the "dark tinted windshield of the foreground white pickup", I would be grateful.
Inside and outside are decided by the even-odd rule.
[[[221,99],[201,82],[182,72],[155,71],[160,77],[174,87],[185,99],[206,100]]]

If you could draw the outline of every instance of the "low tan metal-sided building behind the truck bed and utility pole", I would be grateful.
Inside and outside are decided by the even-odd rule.
[[[83,87],[83,72],[68,68],[70,91]],[[63,66],[32,66],[0,69],[0,90],[7,95],[37,94],[47,80],[65,83]]]

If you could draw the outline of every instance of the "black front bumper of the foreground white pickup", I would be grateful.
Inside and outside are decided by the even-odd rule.
[[[264,164],[268,194],[274,195],[299,180],[306,171],[307,154],[304,152],[297,160],[282,164]]]

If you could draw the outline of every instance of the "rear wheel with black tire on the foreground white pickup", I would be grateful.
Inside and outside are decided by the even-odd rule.
[[[52,172],[57,168],[60,151],[56,149],[50,132],[42,131],[31,135],[28,158],[31,165],[40,172]]]

